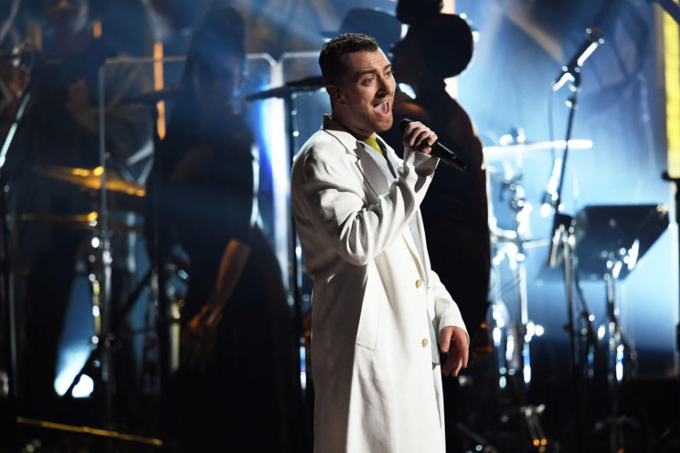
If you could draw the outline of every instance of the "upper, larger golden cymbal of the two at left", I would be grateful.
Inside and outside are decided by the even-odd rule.
[[[37,173],[48,178],[80,185],[89,189],[101,189],[101,174],[103,173],[101,166],[91,170],[89,168],[71,168],[56,165],[35,166],[34,169]],[[134,195],[135,197],[144,197],[147,194],[143,185],[128,183],[128,181],[111,172],[106,174],[106,189]]]

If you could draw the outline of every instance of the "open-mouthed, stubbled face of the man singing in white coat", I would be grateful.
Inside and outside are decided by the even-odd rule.
[[[334,101],[342,110],[345,127],[365,137],[392,127],[396,83],[392,65],[382,50],[346,55],[345,74],[338,88],[341,98]]]

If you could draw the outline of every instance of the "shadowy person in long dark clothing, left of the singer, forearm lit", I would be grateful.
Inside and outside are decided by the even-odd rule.
[[[191,40],[154,161],[159,248],[191,261],[176,395],[186,451],[289,451],[295,348],[280,269],[256,225],[253,137],[239,105],[244,25],[228,6]],[[299,374],[297,374],[299,376]]]

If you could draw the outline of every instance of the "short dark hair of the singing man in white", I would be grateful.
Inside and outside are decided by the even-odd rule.
[[[353,52],[375,52],[378,41],[360,33],[344,33],[326,42],[319,55],[319,67],[324,84],[336,83],[346,70],[345,56]]]

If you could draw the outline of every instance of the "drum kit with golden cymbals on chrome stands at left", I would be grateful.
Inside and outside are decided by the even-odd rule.
[[[69,229],[89,231],[77,251],[76,273],[74,279],[84,275],[89,281],[89,297],[91,298],[92,318],[94,333],[91,336],[91,353],[84,362],[81,370],[72,377],[72,382],[66,391],[60,394],[69,396],[74,387],[79,383],[85,373],[103,382],[103,391],[111,391],[111,352],[113,345],[120,341],[118,327],[125,319],[125,314],[131,309],[132,304],[137,302],[142,286],[149,283],[150,275],[142,278],[137,288],[130,292],[123,289],[126,294],[124,301],[118,301],[115,313],[111,307],[111,265],[113,262],[111,249],[104,245],[115,237],[128,237],[129,234],[139,233],[143,225],[135,222],[144,213],[145,186],[130,182],[118,176],[115,172],[106,171],[106,178],[102,178],[104,169],[96,168],[71,168],[65,166],[34,166],[33,173],[41,178],[61,181],[80,188],[84,193],[91,195],[92,211],[81,214],[63,214],[54,212],[24,212],[18,215],[21,222],[51,224],[64,226]],[[102,184],[102,180],[104,183]],[[102,186],[108,192],[106,210],[101,207]],[[106,214],[103,214],[106,212]],[[105,219],[106,217],[106,219]],[[106,220],[106,222],[104,222]],[[119,243],[128,243],[118,241]],[[123,246],[125,248],[125,246]],[[125,256],[128,252],[122,248],[117,249],[117,260],[127,263],[130,258]],[[127,268],[127,265],[123,265]],[[82,327],[81,327],[82,328]],[[115,349],[115,348],[113,348]],[[97,366],[96,364],[99,364]],[[98,368],[98,369],[93,369]],[[97,377],[96,374],[101,374]],[[65,388],[65,386],[64,386]],[[74,392],[75,394],[75,392]],[[109,408],[107,408],[109,410]]]

